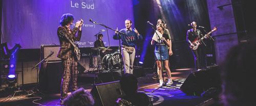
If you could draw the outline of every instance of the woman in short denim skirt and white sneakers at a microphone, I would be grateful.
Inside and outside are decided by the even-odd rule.
[[[156,42],[155,40],[152,39],[151,44],[155,45],[155,60],[157,63],[157,73],[159,75],[159,85],[163,85],[163,77],[162,77],[162,62],[164,63],[164,68],[167,72],[168,75],[168,82],[166,85],[171,85],[173,84],[173,81],[171,79],[171,73],[169,69],[169,56],[173,55],[172,51],[172,42],[170,35],[167,33],[164,33],[165,26],[164,24],[160,23],[156,25],[157,31],[159,31],[162,34],[161,43]],[[169,48],[169,49],[168,49]],[[160,55],[161,52],[161,55]]]

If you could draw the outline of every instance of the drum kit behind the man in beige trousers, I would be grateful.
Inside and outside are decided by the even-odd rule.
[[[90,68],[98,68],[101,71],[119,70],[121,67],[120,50],[110,52],[109,47],[94,47],[93,51],[97,51],[97,56],[91,56]],[[106,51],[106,52],[105,52]],[[101,55],[100,55],[101,53]],[[105,54],[103,54],[105,53]],[[102,55],[103,54],[103,55]],[[102,58],[103,57],[103,58]]]

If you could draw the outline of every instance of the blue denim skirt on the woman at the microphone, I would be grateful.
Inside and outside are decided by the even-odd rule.
[[[162,55],[162,60],[168,60],[169,55],[168,55],[168,48],[166,45],[160,45],[155,47],[155,60],[161,60],[160,58],[160,51]]]

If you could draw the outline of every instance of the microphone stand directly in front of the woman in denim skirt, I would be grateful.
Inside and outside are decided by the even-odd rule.
[[[160,36],[157,34],[157,32],[156,32],[156,30],[155,30],[155,28],[154,28],[154,25],[151,24],[151,26],[152,26],[152,29],[155,31],[155,33],[156,33],[156,35],[157,35],[157,38],[158,38],[157,41],[160,42],[160,39],[161,39],[161,38],[160,38]],[[160,44],[158,45],[158,47],[159,47],[159,49],[160,49],[160,61],[161,61],[161,67],[162,67],[161,72],[162,72],[163,85],[160,86],[160,87],[158,87],[157,89],[151,91],[151,92],[155,92],[155,91],[158,90],[159,88],[162,88],[162,87],[166,86],[166,85],[165,85],[165,82],[164,82],[163,61],[162,61],[162,49],[160,48]],[[160,79],[160,78],[159,78],[159,79]]]

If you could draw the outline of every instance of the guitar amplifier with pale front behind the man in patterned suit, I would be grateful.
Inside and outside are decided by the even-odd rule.
[[[53,52],[53,55],[47,58],[45,61],[54,62],[54,61],[61,61],[60,58],[57,57],[57,54],[59,52],[60,45],[41,45],[40,48],[40,59],[43,60],[44,58],[47,58],[51,52]]]

